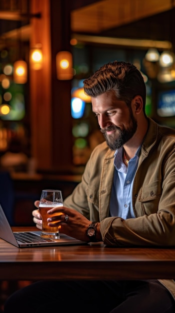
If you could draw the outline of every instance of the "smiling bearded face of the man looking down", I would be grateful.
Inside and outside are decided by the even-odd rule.
[[[123,146],[137,129],[137,120],[124,101],[114,91],[91,98],[92,110],[98,118],[101,132],[112,150]]]

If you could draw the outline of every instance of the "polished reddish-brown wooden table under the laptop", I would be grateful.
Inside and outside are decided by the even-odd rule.
[[[17,248],[0,239],[0,279],[149,278],[175,278],[175,248],[104,244]]]

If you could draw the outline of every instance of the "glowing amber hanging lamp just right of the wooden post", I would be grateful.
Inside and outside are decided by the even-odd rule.
[[[73,78],[71,52],[59,51],[56,54],[56,73],[59,80],[69,80]]]

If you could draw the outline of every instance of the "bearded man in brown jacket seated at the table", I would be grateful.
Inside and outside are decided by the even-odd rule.
[[[175,245],[175,130],[147,118],[145,83],[130,63],[105,64],[84,81],[84,90],[106,141],[92,152],[64,207],[48,211],[63,212],[48,218],[49,225],[57,221],[68,235],[116,248]],[[41,228],[38,210],[33,216]],[[54,307],[61,312],[172,313],[175,282],[40,281],[13,294],[4,312],[43,313]]]

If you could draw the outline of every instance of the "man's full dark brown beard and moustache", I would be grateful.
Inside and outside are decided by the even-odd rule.
[[[107,131],[115,130],[113,134],[108,135]],[[131,120],[128,128],[124,128],[123,130],[115,125],[111,125],[109,127],[103,128],[100,131],[103,133],[106,142],[111,150],[119,149],[123,146],[132,136],[135,134],[137,130],[137,120],[134,118],[133,114],[131,115]]]

